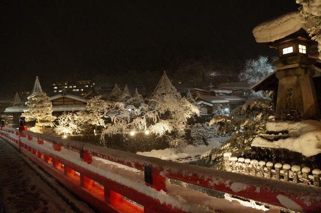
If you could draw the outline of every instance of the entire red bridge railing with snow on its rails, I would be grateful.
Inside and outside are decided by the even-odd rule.
[[[102,212],[201,213],[224,212],[225,208],[238,213],[262,212],[172,185],[166,178],[298,212],[321,209],[319,187],[273,179],[262,181],[260,177],[169,162],[23,130],[23,127],[20,131],[1,128],[0,134]]]

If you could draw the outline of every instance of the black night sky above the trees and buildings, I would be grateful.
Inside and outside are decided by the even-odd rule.
[[[42,87],[130,84],[162,70],[171,76],[190,59],[229,66],[273,56],[252,29],[297,7],[295,0],[1,0],[1,87],[31,90],[36,75]]]

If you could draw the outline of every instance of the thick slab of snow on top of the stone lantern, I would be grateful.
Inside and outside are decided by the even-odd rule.
[[[267,43],[282,39],[299,31],[301,28],[308,30],[311,27],[313,25],[309,21],[302,23],[300,12],[296,11],[259,24],[253,29],[253,35],[256,42]]]

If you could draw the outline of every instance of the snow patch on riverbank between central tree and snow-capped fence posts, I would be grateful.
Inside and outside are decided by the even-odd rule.
[[[150,152],[137,152],[136,154],[160,158],[167,161],[188,163],[200,160],[202,154],[211,149],[220,147],[222,143],[227,139],[228,137],[215,137],[209,140],[208,146],[203,144],[199,146],[188,145],[183,148],[167,148],[161,150],[153,149]]]

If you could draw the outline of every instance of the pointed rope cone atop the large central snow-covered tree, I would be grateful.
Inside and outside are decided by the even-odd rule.
[[[164,71],[161,76],[161,80],[154,89],[152,96],[161,96],[161,95],[174,95],[177,97],[181,97],[180,93],[177,92],[177,89],[170,80],[168,79],[166,72]]]

